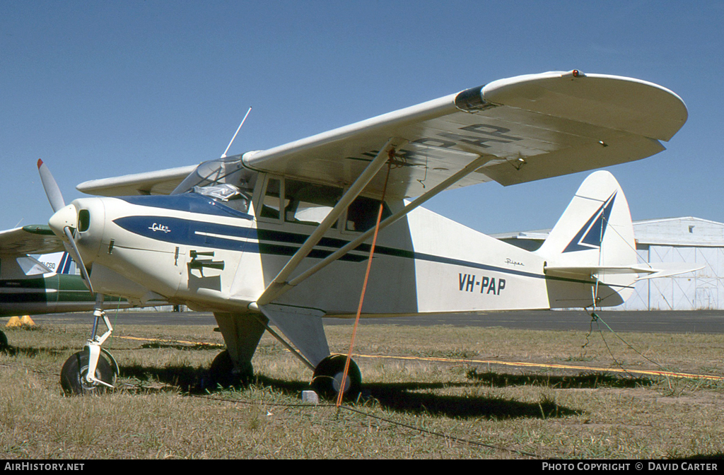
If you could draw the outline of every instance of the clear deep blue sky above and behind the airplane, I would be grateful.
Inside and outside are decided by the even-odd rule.
[[[0,229],[85,180],[269,148],[502,77],[578,69],[671,89],[667,151],[610,167],[633,219],[724,222],[721,1],[0,0]],[[586,174],[451,190],[494,233],[552,227]]]

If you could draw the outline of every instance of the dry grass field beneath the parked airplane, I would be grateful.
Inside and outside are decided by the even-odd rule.
[[[266,335],[256,382],[202,392],[198,382],[223,348],[212,327],[118,323],[106,344],[121,367],[117,390],[93,397],[66,397],[59,384],[88,326],[6,330],[0,458],[724,454],[724,381],[705,378],[724,376],[724,335],[366,325],[355,348],[363,395],[336,408],[301,403],[310,372]],[[350,332],[327,328],[333,352],[346,353]],[[662,369],[702,377],[638,372]]]

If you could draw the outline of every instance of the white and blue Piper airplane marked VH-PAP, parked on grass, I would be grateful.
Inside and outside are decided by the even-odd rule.
[[[325,316],[623,303],[640,276],[691,269],[637,264],[628,203],[609,172],[584,181],[535,252],[420,205],[449,188],[644,159],[687,116],[659,85],[573,70],[496,80],[268,150],[84,182],[78,190],[96,197],[68,205],[39,161],[49,227],[99,303],[63,387],[113,384],[101,355],[112,331],[104,295],[213,311],[227,345],[211,363],[216,382],[251,376],[268,331],[313,371],[315,390],[347,396],[361,374],[330,355]],[[107,331],[96,335],[101,319]]]

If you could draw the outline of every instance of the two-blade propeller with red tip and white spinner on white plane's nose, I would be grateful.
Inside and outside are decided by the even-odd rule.
[[[73,231],[77,229],[77,211],[75,206],[66,206],[58,183],[42,159],[38,159],[38,173],[41,175],[41,182],[43,182],[43,188],[45,189],[46,196],[48,196],[48,201],[50,201],[50,206],[53,208],[53,211],[55,211],[55,214],[49,219],[48,225],[56,235],[62,234],[65,236],[66,239],[63,240],[65,250],[68,251],[75,261],[75,264],[80,267],[80,273],[83,274],[83,279],[85,279],[90,293],[95,293],[93,292],[93,285],[90,283],[88,269],[86,269],[85,264],[83,264],[83,258],[80,256],[80,251],[78,251],[78,246],[73,238]],[[62,238],[60,235],[59,237]]]

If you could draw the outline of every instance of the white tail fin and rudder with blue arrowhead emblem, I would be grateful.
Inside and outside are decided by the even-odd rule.
[[[599,171],[581,183],[541,248],[551,308],[615,306],[633,292],[631,212],[620,185]]]

